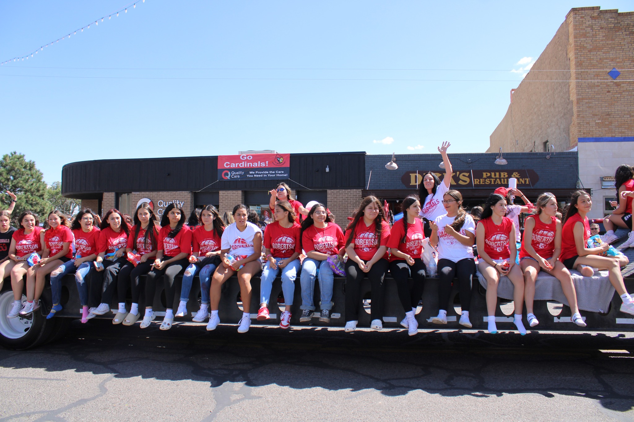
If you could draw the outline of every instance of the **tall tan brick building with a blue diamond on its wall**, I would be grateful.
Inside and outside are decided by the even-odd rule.
[[[591,218],[611,211],[619,164],[634,164],[634,12],[574,8],[491,133],[488,152],[578,148],[579,187],[592,189]],[[615,71],[616,70],[616,71]]]

